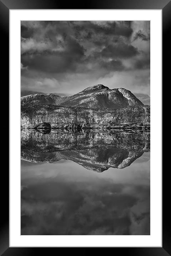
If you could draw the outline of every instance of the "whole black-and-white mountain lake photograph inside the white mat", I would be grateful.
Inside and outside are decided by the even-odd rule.
[[[21,21],[21,235],[150,235],[150,21]]]

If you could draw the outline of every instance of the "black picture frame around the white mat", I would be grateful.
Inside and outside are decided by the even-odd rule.
[[[0,0],[1,64],[3,64],[1,83],[5,88],[5,95],[9,93],[9,10],[11,9],[162,9],[162,84],[169,84],[170,64],[167,64],[171,56],[171,40],[169,39],[171,31],[171,1],[169,0],[87,0],[79,3],[58,0]],[[5,125],[9,123],[7,115],[4,116],[4,120]],[[7,144],[6,140],[5,138],[5,144]],[[131,256],[171,255],[171,225],[170,211],[168,210],[170,180],[168,179],[168,169],[169,167],[162,176],[162,247],[112,247],[114,253],[126,253]],[[51,255],[59,252],[59,247],[9,247],[9,172],[6,166],[2,170],[1,183],[5,186],[3,193],[1,192],[0,255],[37,255],[40,250],[43,250],[45,254],[50,252]],[[53,253],[52,249],[53,251],[55,250]],[[65,248],[65,250],[67,249],[70,248]],[[80,250],[81,253],[86,253],[87,249],[84,248],[83,251],[82,248],[79,248],[79,253]]]

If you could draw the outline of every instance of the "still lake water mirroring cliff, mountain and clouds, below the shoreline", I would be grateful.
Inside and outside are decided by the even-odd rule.
[[[21,134],[21,235],[150,235],[150,134]]]

